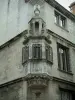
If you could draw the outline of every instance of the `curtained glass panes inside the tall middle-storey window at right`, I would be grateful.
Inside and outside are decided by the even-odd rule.
[[[61,70],[70,71],[69,49],[58,44],[58,66]]]

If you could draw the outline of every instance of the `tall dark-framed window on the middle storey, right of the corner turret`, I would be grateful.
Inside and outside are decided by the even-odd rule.
[[[59,52],[59,49],[63,50],[63,54],[61,54]],[[65,55],[65,53],[66,53],[66,55]],[[59,68],[59,70],[62,70],[64,72],[71,72],[69,48],[60,44],[60,43],[57,43],[57,55],[58,55],[58,68]],[[60,61],[60,57],[62,57],[62,61]],[[65,61],[64,61],[64,59],[65,59]],[[63,63],[63,65],[61,65],[61,62]]]

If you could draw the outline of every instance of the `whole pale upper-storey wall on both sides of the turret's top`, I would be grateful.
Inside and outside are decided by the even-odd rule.
[[[0,45],[10,40],[25,29],[34,16],[34,6],[25,0],[0,1]],[[67,18],[67,30],[57,26],[54,22],[54,8],[46,2],[41,6],[41,17],[46,21],[47,29],[75,43],[75,22]]]

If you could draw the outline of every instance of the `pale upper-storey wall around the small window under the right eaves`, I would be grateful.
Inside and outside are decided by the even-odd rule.
[[[75,43],[75,22],[73,22],[71,19],[67,18],[65,15],[60,13],[61,15],[65,16],[67,19],[66,21],[67,29],[64,29],[60,27],[59,25],[56,25],[54,11],[55,11],[55,8],[45,3],[45,19],[44,20],[46,22],[47,29],[50,29],[54,33],[58,34],[59,36],[62,36],[63,38]]]

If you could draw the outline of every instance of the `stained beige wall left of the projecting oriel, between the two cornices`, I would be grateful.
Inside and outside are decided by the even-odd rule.
[[[20,37],[0,50],[0,84],[24,75],[22,47],[24,37]]]

